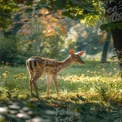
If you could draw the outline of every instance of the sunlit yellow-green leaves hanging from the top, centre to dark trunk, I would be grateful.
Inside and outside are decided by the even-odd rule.
[[[46,0],[41,2],[46,5]],[[63,10],[63,15],[74,20],[83,20],[88,25],[96,25],[99,20],[99,15],[102,13],[99,0],[50,0],[48,6],[54,10]],[[88,19],[89,18],[89,19]],[[90,21],[89,21],[90,20]],[[91,23],[92,20],[92,23]],[[93,22],[94,21],[94,22]],[[96,23],[95,23],[96,22]]]

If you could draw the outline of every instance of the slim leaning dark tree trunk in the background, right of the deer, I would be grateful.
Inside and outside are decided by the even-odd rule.
[[[107,38],[103,47],[102,57],[101,57],[101,63],[105,63],[107,61],[107,52],[109,48],[109,43],[111,39],[111,34],[107,33]]]

